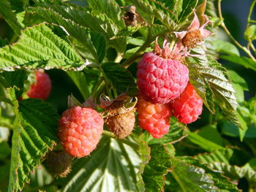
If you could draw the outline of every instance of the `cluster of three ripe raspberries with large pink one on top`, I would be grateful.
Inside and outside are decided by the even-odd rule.
[[[172,111],[181,123],[192,123],[203,109],[203,100],[189,83],[189,70],[175,52],[167,41],[163,49],[156,41],[154,51],[138,62],[137,84],[143,98],[138,101],[138,123],[155,138],[167,134]]]

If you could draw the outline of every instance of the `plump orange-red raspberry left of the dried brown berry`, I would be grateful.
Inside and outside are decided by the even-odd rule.
[[[74,157],[89,155],[97,146],[104,121],[91,108],[72,107],[59,120],[59,139],[64,150]]]

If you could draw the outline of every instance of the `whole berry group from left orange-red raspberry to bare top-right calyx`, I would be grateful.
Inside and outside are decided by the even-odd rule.
[[[195,14],[187,31],[174,32],[178,42],[173,48],[165,39],[161,49],[156,39],[154,51],[145,53],[138,62],[138,124],[155,138],[167,134],[171,115],[181,123],[192,123],[202,113],[203,100],[189,83],[189,69],[181,60],[192,56],[189,49],[201,45],[211,34],[204,29],[208,18],[204,20],[206,22],[200,25]],[[105,124],[119,139],[131,134],[135,125],[135,104],[128,98],[122,94],[112,100],[108,96],[99,99],[106,113],[102,113]],[[99,142],[103,124],[102,117],[91,108],[66,110],[59,120],[59,139],[64,150],[78,158],[89,155]]]

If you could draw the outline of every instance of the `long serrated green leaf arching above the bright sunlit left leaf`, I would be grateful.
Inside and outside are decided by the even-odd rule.
[[[65,7],[54,4],[38,4],[40,7],[31,8],[31,11],[36,12],[42,18],[44,18],[48,23],[56,23],[61,25],[63,23],[73,23],[72,26],[83,26],[90,28],[92,31],[102,34],[110,42],[110,46],[113,46],[118,50],[118,52],[123,53],[126,49],[126,39],[118,38],[110,40],[111,37],[118,33],[118,27],[113,20],[108,18],[105,14],[99,14],[97,16],[91,15],[87,12],[87,9],[82,7]],[[59,18],[64,18],[59,19]],[[65,21],[66,20],[66,21]],[[74,37],[79,39],[79,35],[75,35],[77,28],[67,26],[65,24],[64,28],[67,30],[72,30]],[[81,34],[80,34],[81,35]],[[85,36],[85,34],[83,34]],[[85,42],[87,43],[87,42]]]

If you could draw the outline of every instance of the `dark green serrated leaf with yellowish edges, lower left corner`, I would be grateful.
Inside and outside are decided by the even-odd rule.
[[[13,99],[13,93],[10,92]],[[29,182],[29,174],[49,149],[56,145],[59,115],[40,99],[13,101],[15,127],[12,135],[12,158],[9,191],[20,191]]]

